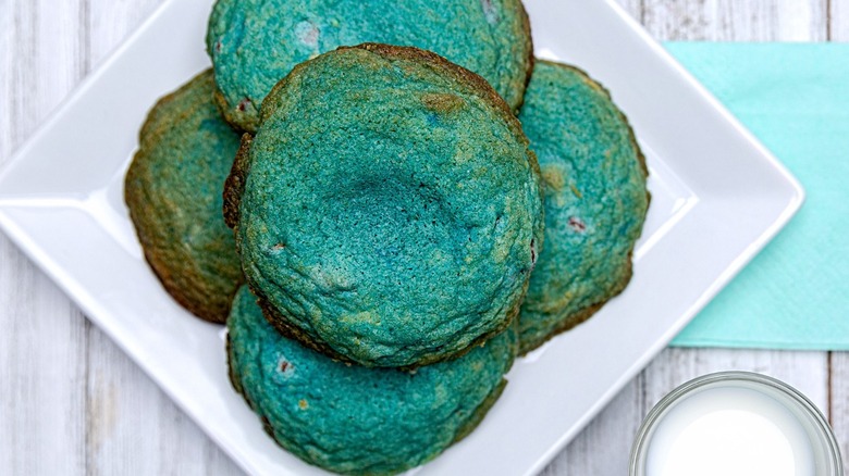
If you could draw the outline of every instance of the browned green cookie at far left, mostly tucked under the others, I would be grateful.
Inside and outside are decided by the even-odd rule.
[[[238,134],[212,100],[212,71],[150,111],[124,180],[124,200],[153,272],[184,308],[223,323],[242,286],[233,233],[221,215]]]

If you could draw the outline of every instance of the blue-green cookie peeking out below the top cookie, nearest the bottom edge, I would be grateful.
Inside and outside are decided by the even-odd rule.
[[[333,361],[276,331],[247,287],[227,321],[230,378],[276,441],[344,474],[394,474],[468,435],[501,394],[515,326],[468,354],[415,372]]]

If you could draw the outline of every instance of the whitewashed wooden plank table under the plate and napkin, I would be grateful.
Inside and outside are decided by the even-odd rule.
[[[160,1],[0,0],[0,166]],[[661,40],[849,40],[849,0],[619,1]],[[2,235],[0,329],[0,474],[241,473]],[[802,390],[849,454],[849,353],[672,349],[544,474],[627,474],[648,410],[678,384],[728,368]]]

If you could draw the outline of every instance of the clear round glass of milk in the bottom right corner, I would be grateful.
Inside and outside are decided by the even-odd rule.
[[[690,380],[645,417],[630,476],[844,476],[823,414],[787,384],[750,372]]]

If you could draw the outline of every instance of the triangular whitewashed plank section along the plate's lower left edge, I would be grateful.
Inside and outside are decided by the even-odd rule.
[[[88,473],[239,475],[242,471],[142,369],[89,331]]]

